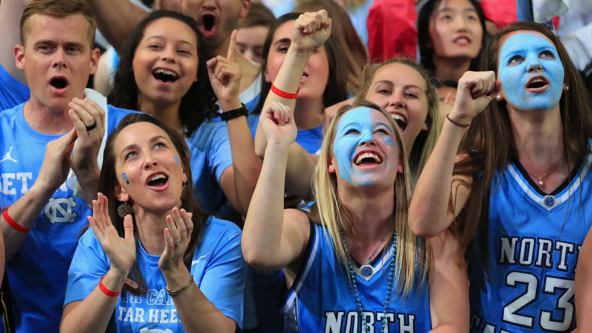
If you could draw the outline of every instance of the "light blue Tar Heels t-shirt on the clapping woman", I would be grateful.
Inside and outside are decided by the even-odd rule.
[[[163,227],[164,228],[164,227]],[[243,323],[243,289],[246,263],[240,248],[239,227],[213,216],[208,219],[201,244],[193,255],[190,272],[208,300],[227,317]],[[136,260],[146,283],[147,294],[123,290],[115,305],[117,332],[185,332],[166,281],[158,267],[160,255],[150,255],[136,242]],[[64,305],[83,300],[107,274],[111,263],[92,229],[86,230],[68,271]],[[105,313],[111,315],[111,313]]]

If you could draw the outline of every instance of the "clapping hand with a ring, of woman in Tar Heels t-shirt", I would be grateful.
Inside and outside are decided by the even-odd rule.
[[[166,216],[165,228],[165,251],[162,252],[158,267],[163,274],[173,273],[182,268],[185,272],[187,268],[183,263],[183,256],[185,250],[191,241],[191,232],[193,231],[193,222],[191,218],[192,213],[186,212],[185,209],[179,210],[177,207],[173,208],[173,215]]]

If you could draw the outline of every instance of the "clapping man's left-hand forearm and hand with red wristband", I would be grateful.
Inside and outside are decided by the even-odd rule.
[[[0,215],[7,261],[21,247],[28,230],[33,228],[47,200],[66,181],[75,140],[76,130],[72,129],[59,139],[48,142],[41,171],[33,186],[13,204],[5,207],[5,214]],[[8,216],[8,221],[4,216]]]

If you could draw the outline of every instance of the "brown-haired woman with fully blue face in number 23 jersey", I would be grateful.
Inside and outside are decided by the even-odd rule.
[[[590,98],[540,24],[508,25],[484,56],[488,72],[459,81],[409,223],[420,236],[459,235],[478,331],[573,331],[575,268],[578,255],[589,261],[580,244],[592,223]]]

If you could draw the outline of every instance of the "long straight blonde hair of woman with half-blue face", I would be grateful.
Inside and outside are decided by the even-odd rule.
[[[397,255],[395,258],[395,280],[398,280],[397,293],[403,292],[403,296],[413,288],[415,278],[416,262],[419,266],[419,272],[422,283],[426,279],[427,267],[429,267],[428,259],[431,257],[431,246],[429,239],[421,239],[420,249],[418,251],[418,238],[411,231],[407,223],[408,207],[411,201],[411,181],[409,164],[407,162],[407,152],[405,145],[403,145],[403,136],[398,130],[397,123],[392,119],[391,115],[379,107],[377,104],[369,101],[356,101],[352,105],[346,104],[337,110],[337,113],[327,133],[323,139],[321,147],[321,155],[318,156],[318,162],[314,169],[313,175],[313,194],[316,204],[311,207],[310,219],[317,225],[323,226],[325,233],[328,233],[327,238],[333,240],[333,248],[337,260],[342,262],[345,270],[348,270],[348,262],[352,262],[353,258],[349,254],[345,245],[341,241],[342,232],[347,232],[353,226],[356,219],[354,214],[340,201],[337,196],[337,175],[334,172],[329,172],[329,159],[333,152],[333,143],[337,132],[337,123],[340,117],[356,107],[368,107],[382,113],[391,126],[395,129],[395,139],[399,148],[399,159],[403,162],[403,173],[397,174],[394,183],[395,202],[393,207],[393,220],[389,232],[397,232]],[[383,252],[388,251],[390,246],[384,247]],[[348,274],[349,277],[349,274]],[[349,277],[351,278],[351,277]]]

